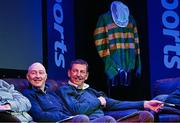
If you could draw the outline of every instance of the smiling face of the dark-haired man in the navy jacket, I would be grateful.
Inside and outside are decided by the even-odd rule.
[[[84,64],[73,64],[68,70],[70,81],[76,85],[82,85],[88,78],[87,66]]]

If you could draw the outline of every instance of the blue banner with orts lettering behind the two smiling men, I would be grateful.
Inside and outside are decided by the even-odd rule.
[[[75,57],[73,0],[47,0],[48,77],[65,79]]]

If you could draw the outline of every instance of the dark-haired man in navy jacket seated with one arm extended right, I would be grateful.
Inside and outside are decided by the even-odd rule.
[[[142,111],[138,111],[135,115],[130,115],[131,117],[120,121],[150,122],[154,120],[153,115],[143,110],[150,109],[158,112],[159,108],[163,106],[162,102],[157,100],[119,101],[108,98],[103,92],[90,88],[88,84],[84,83],[88,79],[88,64],[82,59],[72,61],[68,76],[70,80],[67,85],[60,87],[59,95],[74,115],[85,114],[92,121],[105,115],[103,109],[116,111],[139,109]],[[121,119],[121,117],[119,118]]]

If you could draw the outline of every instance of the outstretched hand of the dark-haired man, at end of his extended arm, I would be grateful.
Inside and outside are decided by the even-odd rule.
[[[164,103],[158,100],[144,101],[144,108],[158,112],[164,106]]]

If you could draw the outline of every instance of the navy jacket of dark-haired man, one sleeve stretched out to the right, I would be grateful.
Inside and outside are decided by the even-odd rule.
[[[60,87],[58,94],[61,96],[68,110],[72,115],[86,114],[90,120],[104,116],[103,109],[106,110],[125,110],[143,109],[143,101],[118,101],[105,96],[103,92],[98,92],[92,88],[76,89],[69,84]],[[106,107],[101,106],[98,99],[103,96],[106,99]]]

